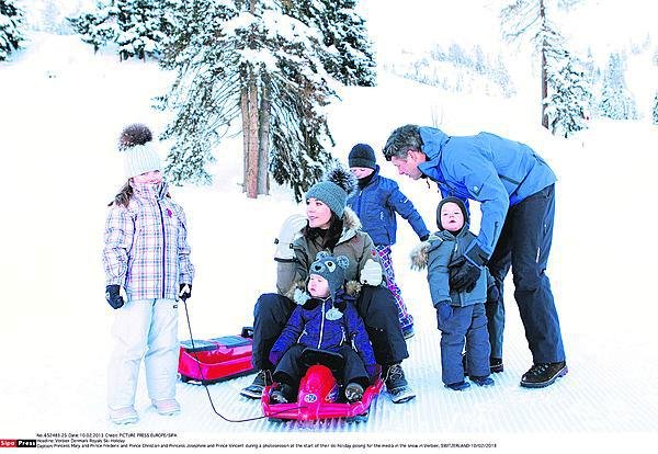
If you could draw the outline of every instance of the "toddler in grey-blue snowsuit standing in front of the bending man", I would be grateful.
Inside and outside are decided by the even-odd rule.
[[[494,385],[489,377],[489,333],[485,302],[488,272],[481,273],[473,288],[450,287],[449,268],[455,266],[464,249],[477,237],[468,230],[468,212],[456,197],[445,197],[436,208],[439,231],[412,254],[413,264],[428,268],[428,281],[436,320],[441,330],[441,373],[447,388],[462,390],[470,386],[464,381],[462,351],[466,345],[469,378],[479,386]],[[485,269],[486,270],[486,269]]]

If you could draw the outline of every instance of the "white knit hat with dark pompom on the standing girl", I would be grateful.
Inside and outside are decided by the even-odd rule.
[[[148,126],[136,123],[128,125],[118,136],[118,150],[124,155],[126,178],[162,170],[162,161],[152,141]]]

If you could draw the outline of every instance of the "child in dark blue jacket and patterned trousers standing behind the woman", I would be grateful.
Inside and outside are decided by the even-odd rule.
[[[367,144],[356,144],[348,158],[350,170],[359,180],[359,190],[348,198],[348,205],[356,213],[363,231],[367,232],[382,259],[386,286],[395,296],[398,318],[405,338],[413,336],[413,317],[409,314],[400,287],[395,282],[390,248],[396,241],[396,213],[409,222],[421,241],[430,232],[413,204],[399,190],[398,184],[379,175],[375,151]]]

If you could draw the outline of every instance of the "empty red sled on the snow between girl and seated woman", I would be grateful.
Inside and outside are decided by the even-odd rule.
[[[253,330],[242,328],[240,336],[183,341],[180,347],[179,374],[181,382],[198,382],[202,385],[223,382],[252,374],[251,364]]]

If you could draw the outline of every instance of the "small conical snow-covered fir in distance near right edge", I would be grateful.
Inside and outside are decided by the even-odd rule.
[[[626,87],[626,59],[624,55],[611,54],[603,75],[603,89],[599,114],[612,120],[637,120],[637,105]]]

